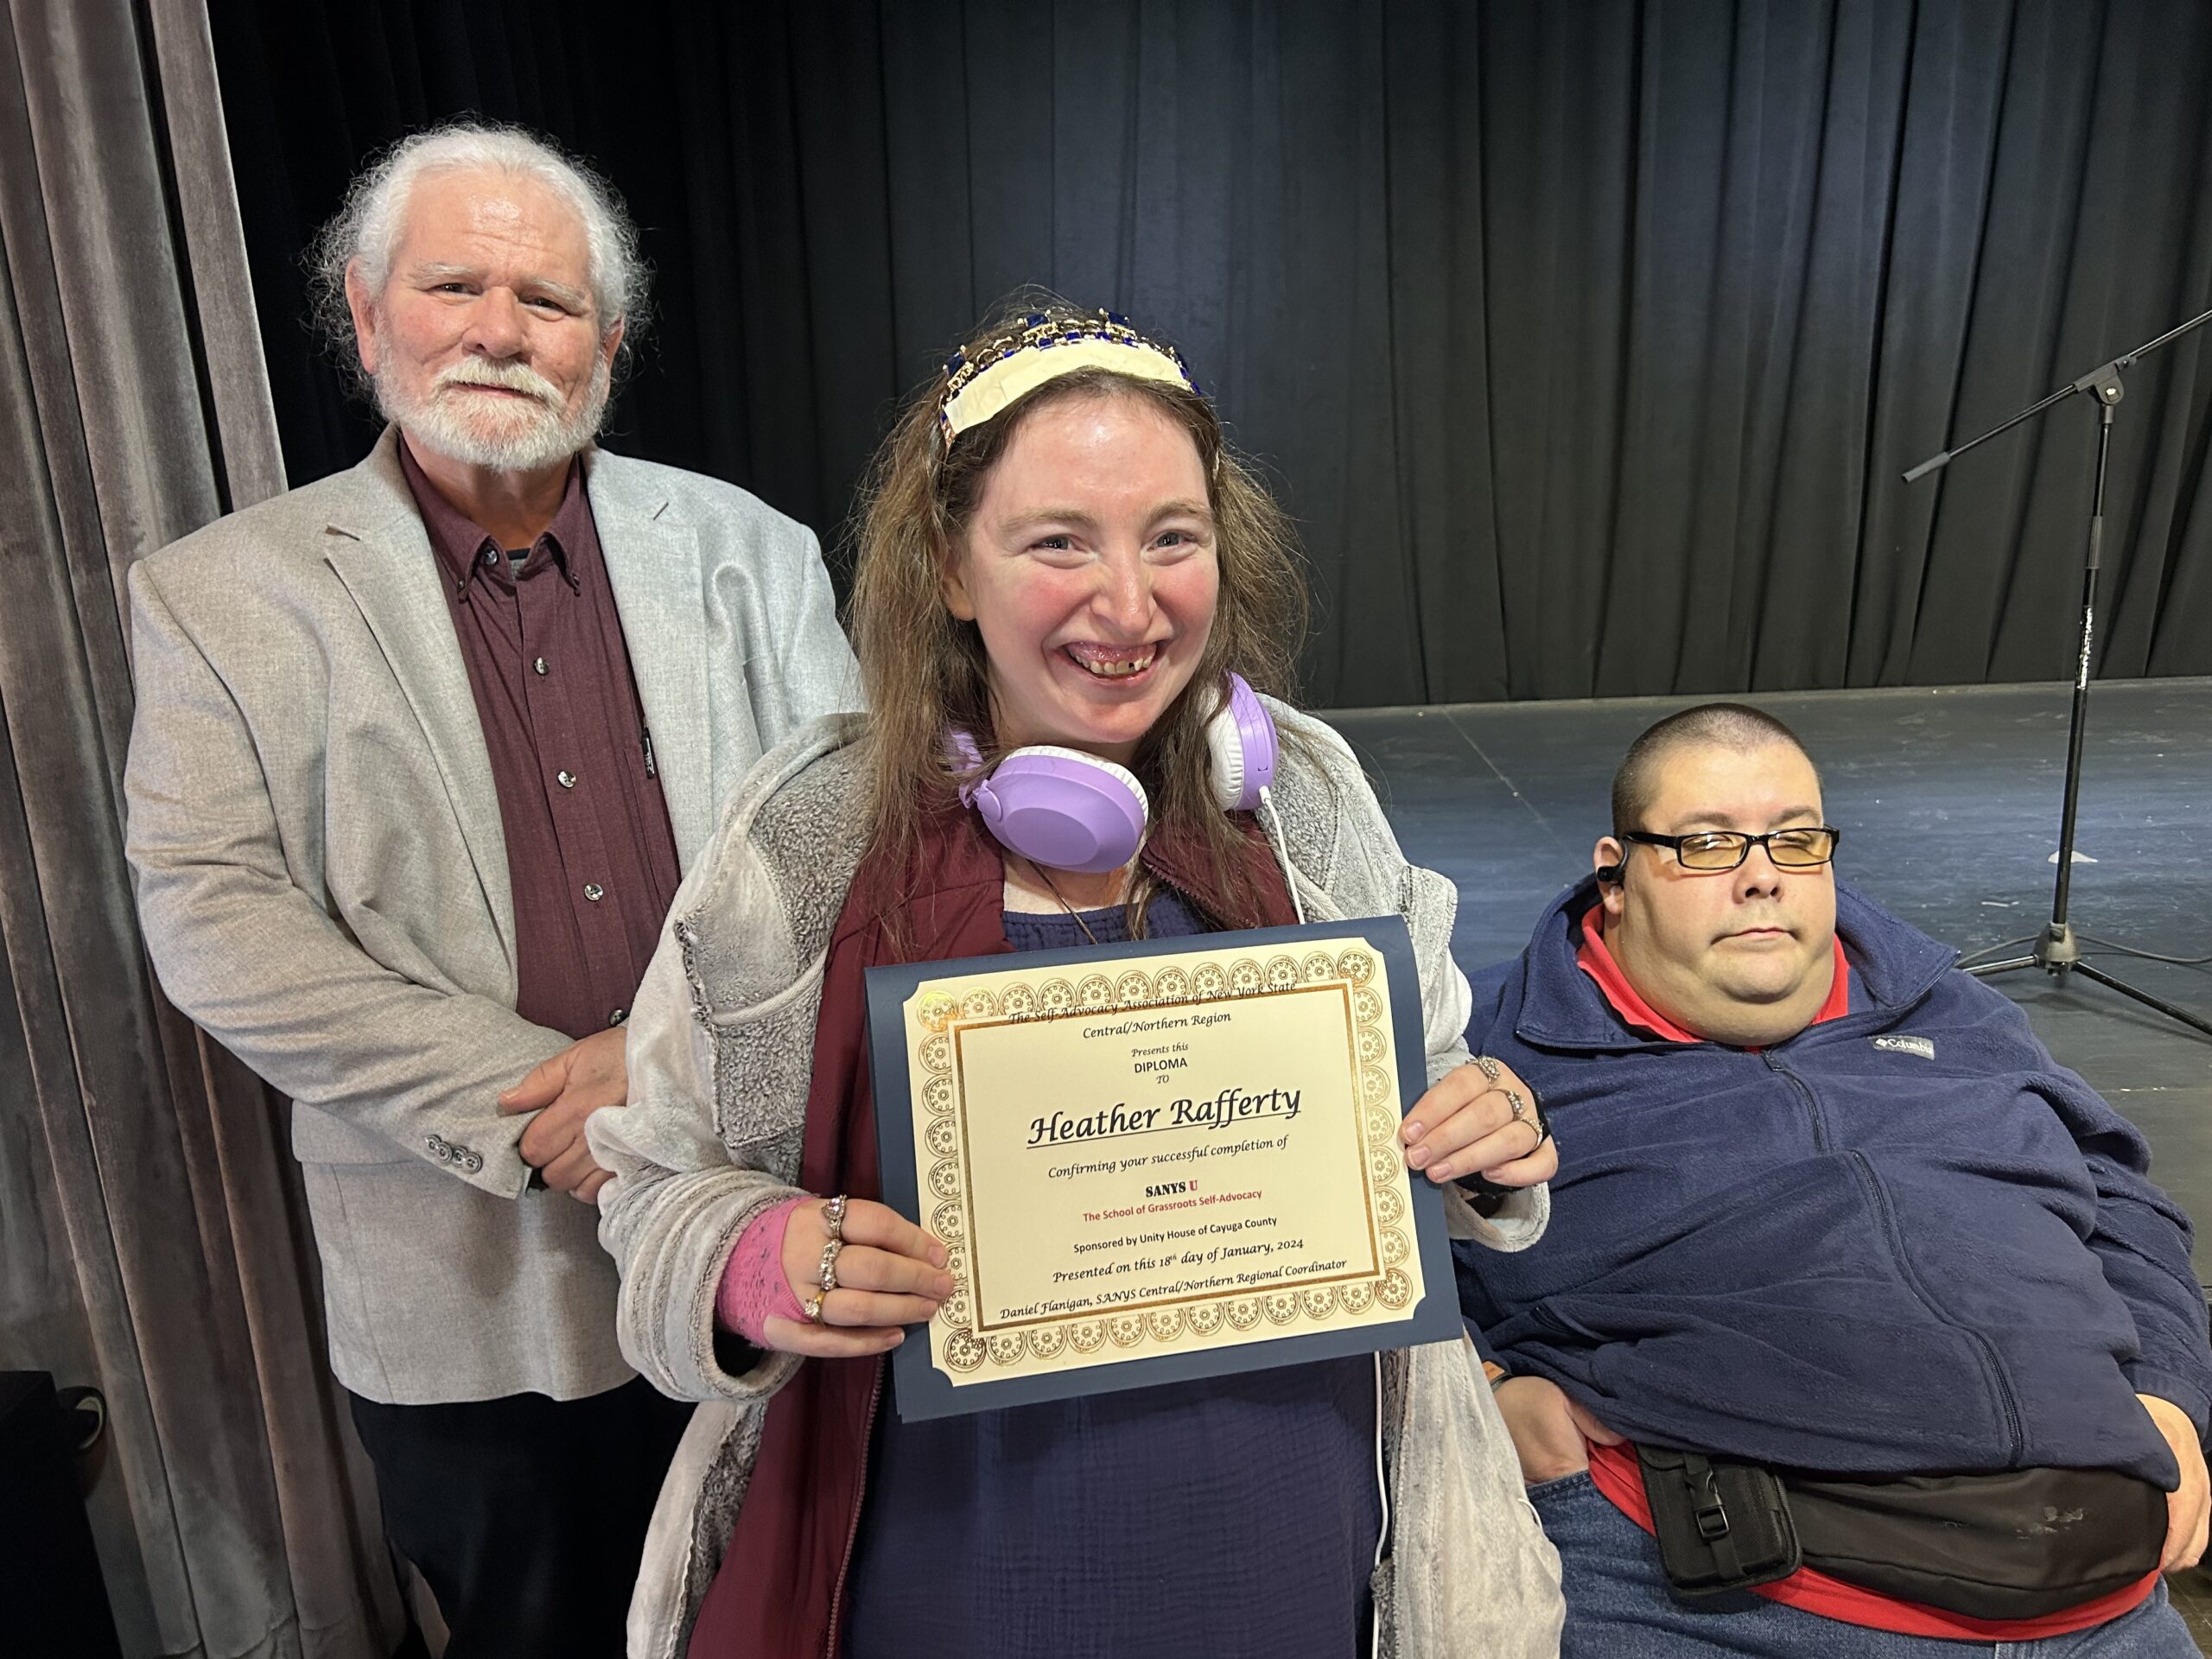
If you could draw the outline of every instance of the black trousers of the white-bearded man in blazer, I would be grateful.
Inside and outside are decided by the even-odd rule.
[[[447,1659],[622,1659],[646,1522],[690,1405],[644,1378],[586,1400],[352,1402],[385,1533],[453,1632]]]

